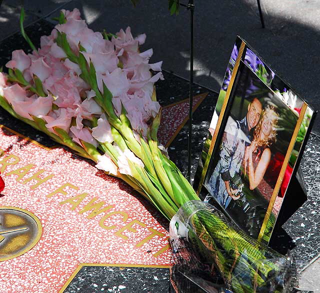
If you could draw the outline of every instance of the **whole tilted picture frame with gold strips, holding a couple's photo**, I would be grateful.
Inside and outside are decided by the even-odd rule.
[[[237,37],[195,175],[200,198],[268,243],[314,116]]]

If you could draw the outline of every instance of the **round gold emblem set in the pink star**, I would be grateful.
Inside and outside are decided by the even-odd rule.
[[[0,261],[29,251],[40,239],[42,226],[31,212],[13,206],[0,207]]]

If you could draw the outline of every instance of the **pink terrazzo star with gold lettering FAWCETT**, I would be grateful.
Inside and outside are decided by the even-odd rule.
[[[187,112],[187,102],[163,109],[163,144]],[[84,262],[170,264],[168,222],[130,186],[63,147],[47,149],[5,128],[0,148],[0,205],[26,209],[42,225],[31,250],[0,263],[1,291],[56,292]]]

